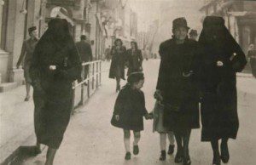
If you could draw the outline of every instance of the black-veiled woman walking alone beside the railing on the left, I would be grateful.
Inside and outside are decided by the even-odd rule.
[[[38,143],[48,145],[46,165],[52,165],[72,110],[72,83],[81,75],[81,60],[67,20],[52,19],[38,41],[30,68],[34,124]]]

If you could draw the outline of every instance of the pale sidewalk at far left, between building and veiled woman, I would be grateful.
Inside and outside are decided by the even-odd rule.
[[[25,102],[25,96],[24,85],[0,93],[0,162],[10,156],[34,132],[34,105],[32,97],[28,102]]]

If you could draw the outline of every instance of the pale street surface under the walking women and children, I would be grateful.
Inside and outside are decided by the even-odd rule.
[[[158,75],[159,60],[144,61],[146,106],[152,111],[154,106],[154,88]],[[125,82],[123,82],[125,84]],[[256,158],[256,80],[253,77],[238,77],[238,100],[240,130],[236,140],[230,139],[230,165],[253,165]],[[152,132],[152,122],[145,121],[142,138],[139,142],[140,153],[125,161],[123,131],[113,128],[110,119],[113,104],[117,97],[115,81],[108,79],[108,71],[102,74],[102,87],[96,91],[90,101],[76,110],[67,128],[62,145],[55,156],[55,165],[157,165],[175,164],[174,156],[167,156],[166,162],[160,162],[159,135]],[[132,136],[131,136],[132,137]],[[132,142],[132,140],[131,140]],[[201,129],[193,130],[190,140],[190,157],[194,165],[212,163],[210,143],[201,142]],[[131,147],[132,149],[132,147]],[[46,150],[27,159],[25,165],[43,165]]]

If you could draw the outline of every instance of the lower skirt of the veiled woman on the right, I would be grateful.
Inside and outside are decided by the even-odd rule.
[[[204,94],[201,103],[201,141],[236,139],[239,127],[236,94],[229,100],[219,98],[216,94]]]

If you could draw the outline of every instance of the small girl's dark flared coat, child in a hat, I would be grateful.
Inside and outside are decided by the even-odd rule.
[[[118,128],[142,131],[143,116],[147,113],[143,91],[132,89],[130,85],[126,85],[121,89],[115,101],[111,123]],[[115,115],[119,115],[119,121],[115,120]]]

